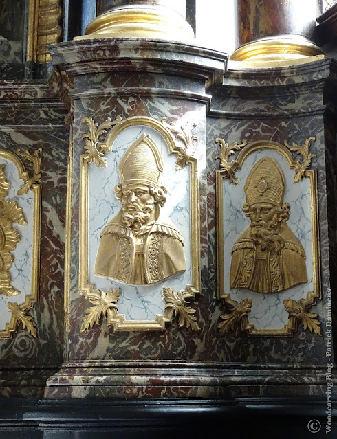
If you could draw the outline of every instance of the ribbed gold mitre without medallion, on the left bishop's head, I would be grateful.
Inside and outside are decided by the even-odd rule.
[[[160,150],[146,134],[133,142],[118,166],[120,183],[124,187],[145,184],[159,188],[162,171],[163,161]]]

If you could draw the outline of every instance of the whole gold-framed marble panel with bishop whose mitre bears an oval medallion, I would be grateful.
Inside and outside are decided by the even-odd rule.
[[[292,335],[299,323],[320,333],[309,312],[320,298],[312,139],[301,149],[303,162],[296,157],[300,147],[287,142],[229,146],[217,139],[221,333],[239,324],[250,335]]]

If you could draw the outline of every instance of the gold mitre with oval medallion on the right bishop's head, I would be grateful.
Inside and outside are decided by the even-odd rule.
[[[248,205],[270,203],[281,207],[285,180],[276,160],[269,157],[259,160],[250,171],[244,190]]]

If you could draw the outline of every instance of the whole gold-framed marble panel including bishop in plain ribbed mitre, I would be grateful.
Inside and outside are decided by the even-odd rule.
[[[197,329],[199,183],[184,130],[150,117],[83,122],[80,293],[94,306],[82,330],[101,317],[116,330],[162,330],[178,315]]]

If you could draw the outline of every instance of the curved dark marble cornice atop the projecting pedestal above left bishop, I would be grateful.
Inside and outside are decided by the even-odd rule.
[[[74,76],[105,71],[179,74],[221,83],[227,55],[195,45],[148,38],[98,38],[50,45],[54,65]]]

